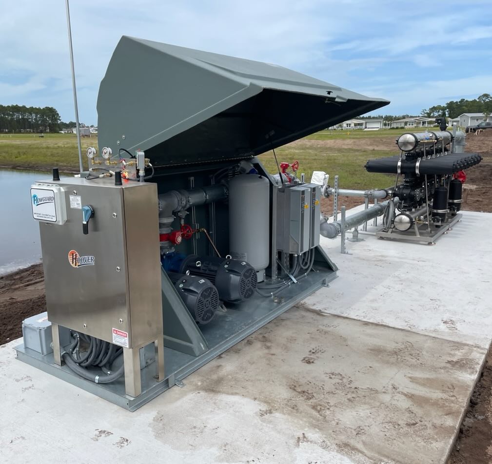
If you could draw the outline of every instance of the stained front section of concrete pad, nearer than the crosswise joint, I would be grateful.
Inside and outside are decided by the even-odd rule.
[[[130,413],[16,361],[16,343],[0,349],[9,463],[443,463],[485,355],[293,308]]]

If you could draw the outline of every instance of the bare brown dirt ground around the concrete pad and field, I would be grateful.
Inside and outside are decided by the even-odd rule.
[[[484,159],[466,171],[463,210],[492,212],[492,131],[488,132],[467,138],[466,151],[478,152]],[[337,146],[349,143],[350,146],[343,147],[354,149],[361,146],[357,144],[368,144],[368,140],[314,142]],[[394,138],[374,139],[371,148],[391,150],[394,143]],[[358,198],[340,197],[338,204],[348,209],[360,203]],[[322,211],[327,215],[333,213],[332,199],[322,200]],[[0,276],[0,345],[21,337],[22,320],[43,311],[46,297],[41,264]],[[492,464],[492,353],[487,356],[448,464]]]

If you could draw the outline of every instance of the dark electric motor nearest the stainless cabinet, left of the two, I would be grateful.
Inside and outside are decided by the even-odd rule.
[[[196,322],[210,322],[219,305],[218,291],[212,282],[203,277],[176,272],[168,272],[167,275]]]

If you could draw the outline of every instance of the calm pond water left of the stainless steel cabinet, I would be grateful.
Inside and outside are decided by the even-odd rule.
[[[49,176],[0,169],[0,275],[40,262],[39,225],[32,219],[30,189],[35,180]]]

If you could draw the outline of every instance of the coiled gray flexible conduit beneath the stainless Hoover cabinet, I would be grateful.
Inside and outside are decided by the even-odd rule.
[[[62,358],[73,372],[95,383],[111,383],[123,376],[123,364],[118,370],[110,371],[113,362],[123,355],[123,348],[117,348],[116,345],[78,332],[72,332],[72,337],[74,337],[74,341],[68,351],[62,352]],[[89,343],[87,352],[82,356],[79,353],[81,339]],[[89,366],[100,367],[102,373],[97,374],[89,371],[87,369]]]

